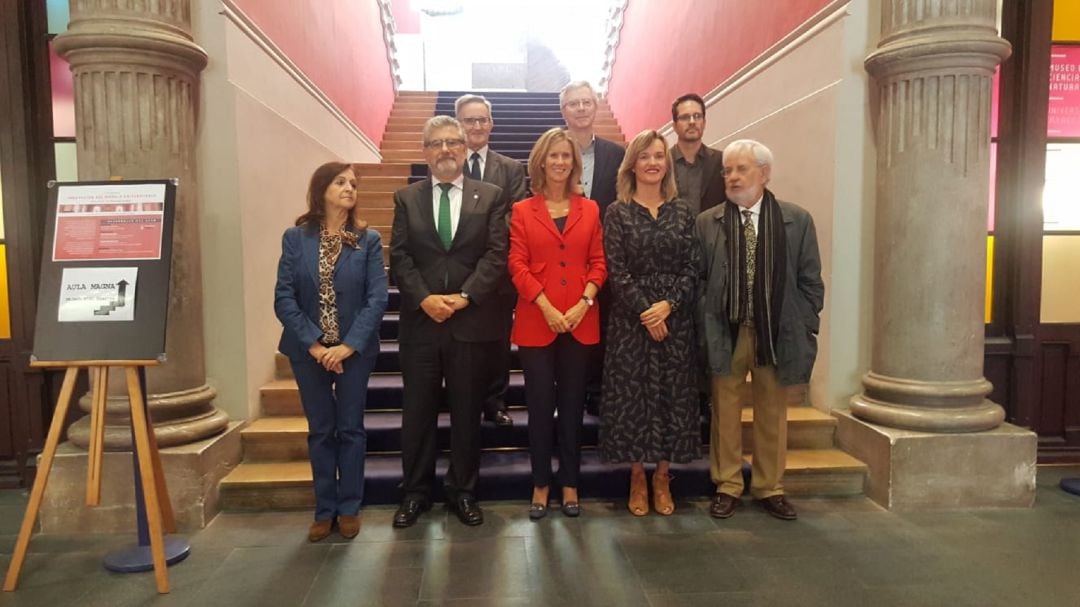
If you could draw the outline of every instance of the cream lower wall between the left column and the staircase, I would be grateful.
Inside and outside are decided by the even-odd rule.
[[[281,233],[323,162],[378,162],[377,146],[229,2],[193,3],[210,55],[198,117],[207,382],[233,419],[258,416],[281,325]]]

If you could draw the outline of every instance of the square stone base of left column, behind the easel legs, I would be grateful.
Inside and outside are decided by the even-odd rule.
[[[161,449],[161,464],[183,531],[205,527],[220,511],[218,485],[240,463],[243,422],[229,422],[225,432],[195,443]],[[102,467],[102,504],[86,507],[84,449],[60,445],[53,460],[39,524],[45,534],[135,532],[134,472],[131,451],[106,453]]]

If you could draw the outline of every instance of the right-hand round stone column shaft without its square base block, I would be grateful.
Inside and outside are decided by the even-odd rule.
[[[983,306],[994,0],[887,0],[866,59],[880,105],[874,336],[856,417],[927,432],[1004,420],[986,400]]]

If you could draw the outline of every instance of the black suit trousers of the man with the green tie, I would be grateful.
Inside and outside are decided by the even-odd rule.
[[[450,409],[449,499],[473,495],[480,474],[480,422],[495,342],[454,339],[447,327],[431,342],[402,343],[402,489],[406,498],[428,501],[438,455],[438,408],[446,385]]]

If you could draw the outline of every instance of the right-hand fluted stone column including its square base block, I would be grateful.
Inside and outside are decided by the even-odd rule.
[[[841,447],[899,510],[1029,507],[1037,439],[983,377],[996,0],[883,0],[870,370]],[[839,238],[839,237],[838,237]]]

